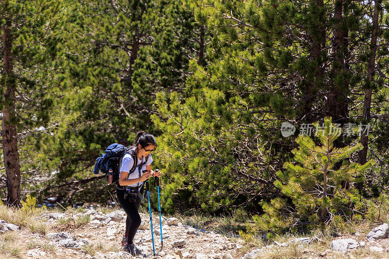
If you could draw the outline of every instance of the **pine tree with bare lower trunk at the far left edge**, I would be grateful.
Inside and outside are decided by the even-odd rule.
[[[1,3],[2,149],[9,205],[20,205],[20,150],[31,131],[49,123],[57,82],[53,59],[58,49],[60,2],[10,1]],[[24,157],[21,157],[24,159]],[[5,189],[4,189],[5,190]]]

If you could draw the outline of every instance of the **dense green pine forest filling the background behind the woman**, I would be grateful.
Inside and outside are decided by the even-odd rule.
[[[388,10],[382,0],[2,1],[0,197],[106,203],[114,187],[93,175],[95,159],[143,130],[157,137],[164,213],[240,214],[273,230],[363,217],[389,181]],[[368,134],[332,138],[331,121]],[[299,137],[315,122],[326,137]]]

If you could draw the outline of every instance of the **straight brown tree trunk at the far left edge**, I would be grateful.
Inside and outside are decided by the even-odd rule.
[[[1,26],[3,44],[4,106],[2,117],[2,145],[5,173],[7,174],[7,199],[11,206],[20,205],[20,164],[18,154],[18,138],[16,131],[15,83],[13,80],[13,62],[11,57],[12,35],[11,21]]]

